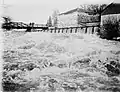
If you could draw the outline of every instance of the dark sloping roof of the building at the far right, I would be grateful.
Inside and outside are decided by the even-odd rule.
[[[120,14],[120,3],[109,4],[102,12],[102,15],[108,14]]]

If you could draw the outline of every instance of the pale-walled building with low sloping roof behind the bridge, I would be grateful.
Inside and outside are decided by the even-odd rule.
[[[73,10],[59,14],[58,27],[78,27],[86,24],[98,24],[98,15],[90,15],[88,11],[81,8],[75,8]]]

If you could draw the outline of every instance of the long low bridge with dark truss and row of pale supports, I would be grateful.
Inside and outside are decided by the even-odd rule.
[[[82,25],[78,27],[64,27],[64,28],[55,28],[48,27],[44,24],[25,24],[23,22],[11,22],[5,27],[9,27],[11,29],[26,29],[26,32],[50,32],[50,33],[88,33],[94,34],[97,30],[99,30],[99,24],[92,25]]]

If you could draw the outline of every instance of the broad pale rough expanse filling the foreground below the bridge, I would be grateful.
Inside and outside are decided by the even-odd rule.
[[[119,74],[109,76],[105,67],[119,63],[120,42],[81,33],[17,31],[5,32],[3,39],[4,87],[8,80],[25,92],[120,92]]]

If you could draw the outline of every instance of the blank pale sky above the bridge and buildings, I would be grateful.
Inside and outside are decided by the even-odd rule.
[[[14,21],[46,23],[55,9],[65,12],[79,7],[80,4],[111,3],[113,0],[4,0],[7,5],[4,14]],[[119,0],[118,0],[119,1]]]

